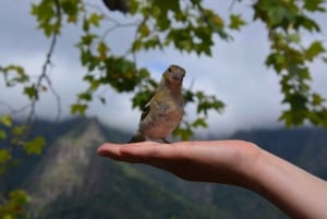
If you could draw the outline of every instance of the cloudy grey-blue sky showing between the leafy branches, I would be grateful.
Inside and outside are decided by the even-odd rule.
[[[95,1],[94,1],[95,2]],[[249,24],[240,32],[232,32],[232,41],[222,41],[215,37],[213,57],[196,56],[194,53],[179,52],[173,47],[164,51],[149,50],[137,54],[137,66],[148,68],[154,78],[159,81],[161,73],[169,64],[179,64],[186,70],[183,86],[193,86],[194,90],[205,90],[216,95],[226,104],[223,113],[215,111],[208,115],[208,129],[198,132],[208,135],[222,136],[239,130],[263,129],[281,126],[278,118],[287,106],[281,105],[279,78],[264,65],[269,51],[267,33],[261,22],[252,22],[250,4],[238,5],[230,9],[230,1],[205,1],[218,14],[226,16],[229,12],[244,14]],[[101,5],[101,1],[98,2]],[[36,22],[29,14],[31,1],[1,0],[0,1],[0,64],[17,63],[25,66],[26,72],[35,78],[41,72],[50,40],[40,31],[36,31]],[[121,22],[131,19],[120,13],[112,13],[102,9],[108,15]],[[316,14],[323,34],[303,35],[304,42],[314,38],[326,39],[326,15]],[[105,27],[104,27],[105,28]],[[78,60],[78,51],[74,44],[78,40],[81,32],[75,26],[64,28],[58,38],[52,66],[49,73],[52,86],[61,97],[61,119],[70,117],[70,106],[76,100],[76,94],[86,88],[82,81],[86,70]],[[132,28],[112,32],[107,38],[111,50],[123,53],[133,38]],[[325,40],[326,44],[326,40]],[[315,92],[327,97],[326,64],[315,62],[312,64]],[[4,87],[0,77],[0,113],[9,113],[10,108],[20,109],[27,104],[22,97],[22,87]],[[135,131],[141,112],[131,109],[133,94],[117,94],[110,87],[106,88],[107,105],[93,101],[87,115],[97,117],[105,124]],[[9,107],[10,106],[10,107]],[[57,113],[56,98],[50,93],[41,95],[37,102],[38,118],[53,120]],[[26,111],[16,113],[19,118],[26,115]],[[194,118],[194,107],[186,108],[186,119]]]

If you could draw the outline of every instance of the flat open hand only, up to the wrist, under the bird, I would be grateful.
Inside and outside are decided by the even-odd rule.
[[[259,153],[261,148],[243,141],[106,143],[98,148],[100,156],[146,163],[185,180],[240,186],[250,183],[249,174]]]

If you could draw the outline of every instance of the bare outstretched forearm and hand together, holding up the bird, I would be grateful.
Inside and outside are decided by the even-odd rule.
[[[184,180],[238,185],[291,218],[327,218],[327,182],[243,141],[106,143],[100,156],[167,170]]]

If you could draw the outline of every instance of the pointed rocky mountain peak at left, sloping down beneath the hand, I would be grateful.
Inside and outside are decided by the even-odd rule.
[[[205,208],[159,187],[144,167],[97,156],[106,139],[125,142],[126,136],[92,119],[53,142],[26,183],[31,217],[206,218]]]

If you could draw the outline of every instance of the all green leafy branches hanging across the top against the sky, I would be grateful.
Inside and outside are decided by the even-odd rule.
[[[104,87],[112,87],[118,93],[134,93],[132,107],[141,108],[157,86],[147,69],[137,68],[137,53],[142,50],[160,49],[168,46],[181,52],[195,52],[198,56],[211,56],[214,37],[231,40],[232,31],[241,28],[251,21],[244,21],[242,14],[233,13],[223,19],[214,10],[206,8],[201,0],[190,1],[137,1],[106,0],[109,10],[118,10],[131,22],[121,23],[108,12],[82,0],[53,0],[32,3],[32,15],[36,17],[38,28],[51,38],[51,45],[37,81],[29,78],[23,66],[10,64],[0,66],[7,86],[24,84],[23,95],[31,100],[29,120],[39,99],[39,93],[51,90],[60,98],[51,86],[47,66],[56,39],[66,25],[75,25],[82,31],[76,48],[80,51],[81,64],[86,73],[84,81],[86,90],[76,95],[72,104],[73,114],[85,114],[94,99],[108,104],[106,95],[99,93]],[[232,3],[243,3],[234,1]],[[231,7],[232,7],[231,5]],[[232,8],[231,8],[232,9]],[[280,76],[280,87],[284,96],[282,104],[288,108],[280,120],[287,126],[301,125],[310,121],[315,125],[327,126],[327,109],[325,98],[311,88],[310,63],[324,58],[326,49],[319,39],[303,46],[301,35],[304,32],[319,33],[320,27],[311,19],[314,12],[325,13],[324,1],[274,1],[258,0],[253,3],[253,21],[259,20],[266,25],[270,41],[270,53],[266,65],[272,68]],[[252,22],[253,22],[252,21]],[[109,24],[109,25],[108,25]],[[99,27],[108,26],[102,33]],[[134,27],[135,37],[126,53],[116,54],[111,51],[108,36],[117,28]],[[128,59],[129,56],[133,60]],[[196,105],[198,114],[194,121],[184,120],[174,134],[187,139],[196,127],[207,126],[209,110],[221,112],[223,104],[213,95],[202,90],[185,89],[186,104]],[[58,109],[60,113],[60,109]],[[189,118],[190,120],[190,118]],[[0,133],[1,134],[1,133]]]

